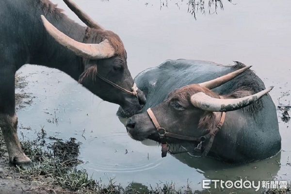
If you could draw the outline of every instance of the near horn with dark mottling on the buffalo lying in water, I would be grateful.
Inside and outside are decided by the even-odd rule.
[[[194,107],[209,112],[235,111],[259,100],[259,98],[266,95],[273,88],[274,86],[271,86],[257,94],[235,99],[219,99],[210,97],[203,92],[198,92],[191,97],[191,103]]]

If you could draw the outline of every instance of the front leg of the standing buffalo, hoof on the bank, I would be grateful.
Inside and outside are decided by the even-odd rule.
[[[9,162],[27,165],[31,160],[24,154],[17,136],[18,118],[15,113],[15,69],[0,66],[0,128],[9,154]]]

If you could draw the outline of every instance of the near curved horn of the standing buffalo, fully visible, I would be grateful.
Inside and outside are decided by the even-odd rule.
[[[107,39],[99,44],[80,43],[56,29],[45,16],[41,15],[43,24],[49,34],[61,45],[73,51],[76,55],[87,59],[105,59],[114,55],[114,49]]]

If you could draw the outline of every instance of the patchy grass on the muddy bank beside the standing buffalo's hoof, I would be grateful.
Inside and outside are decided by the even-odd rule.
[[[52,145],[46,143],[46,131],[41,129],[38,138],[34,141],[22,141],[21,145],[25,154],[32,160],[30,168],[16,167],[22,178],[27,180],[47,180],[46,183],[58,185],[71,194],[193,194],[189,186],[175,188],[173,183],[145,186],[131,183],[127,187],[109,180],[103,184],[102,180],[95,180],[88,175],[85,169],[78,169],[81,163],[78,159],[80,144],[75,138],[63,141],[55,139]],[[51,139],[49,137],[49,139]],[[0,131],[0,157],[4,156],[6,147]],[[64,190],[64,192],[65,192]],[[48,192],[54,193],[53,190]],[[62,192],[62,191],[59,191]]]

